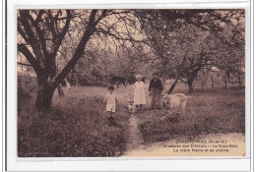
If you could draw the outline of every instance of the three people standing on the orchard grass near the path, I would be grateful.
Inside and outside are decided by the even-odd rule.
[[[134,105],[137,111],[141,111],[143,105],[146,104],[146,96],[144,91],[144,82],[142,82],[142,76],[136,76],[137,82],[134,84]],[[108,93],[104,97],[104,103],[106,103],[106,113],[110,121],[114,121],[115,105],[117,103],[116,94],[113,92],[114,86],[108,86]],[[159,79],[158,73],[153,74],[153,79],[149,86],[151,96],[151,108],[160,109],[160,93],[162,91],[162,84]]]

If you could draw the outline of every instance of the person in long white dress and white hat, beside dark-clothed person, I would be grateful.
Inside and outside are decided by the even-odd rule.
[[[144,83],[142,82],[142,76],[136,76],[137,82],[134,84],[134,104],[137,110],[142,109],[142,105],[146,104],[146,97],[144,92]],[[140,108],[139,108],[140,106]]]

